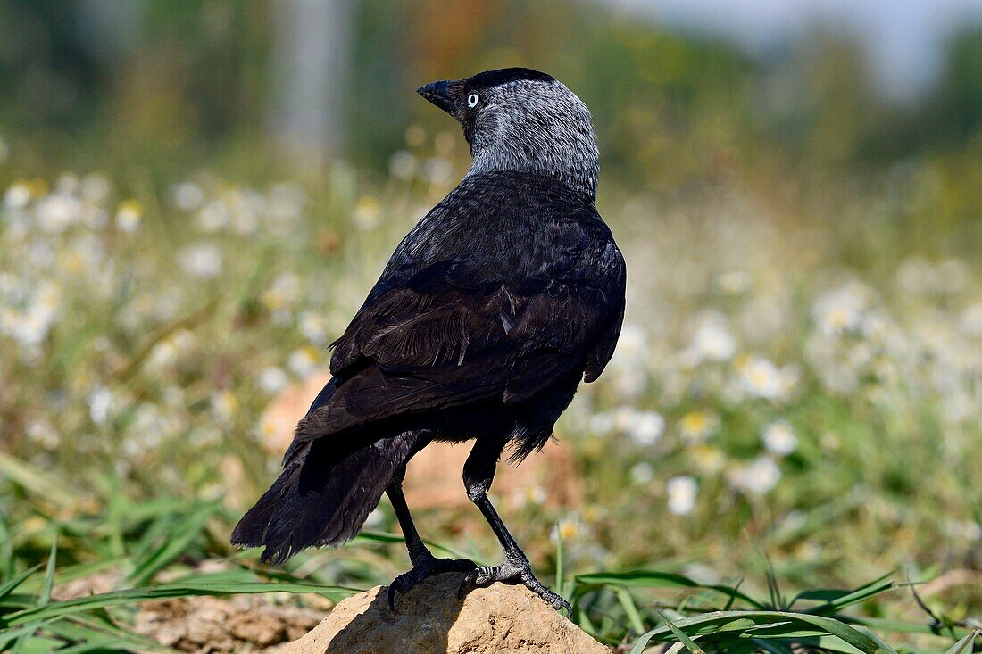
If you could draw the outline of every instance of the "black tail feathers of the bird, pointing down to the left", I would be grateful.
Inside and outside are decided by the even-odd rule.
[[[232,544],[265,546],[260,561],[281,565],[305,547],[355,537],[412,454],[407,432],[347,452],[330,439],[304,444],[232,532]]]

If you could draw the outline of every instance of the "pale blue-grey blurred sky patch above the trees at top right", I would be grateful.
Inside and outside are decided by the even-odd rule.
[[[621,11],[686,31],[732,39],[766,56],[816,25],[841,27],[870,57],[870,80],[903,102],[930,90],[945,42],[982,25],[982,0],[606,0]]]

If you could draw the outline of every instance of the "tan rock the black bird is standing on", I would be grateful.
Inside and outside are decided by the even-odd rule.
[[[289,654],[611,654],[524,586],[494,583],[457,597],[461,575],[439,574],[401,595],[350,597],[282,650]]]

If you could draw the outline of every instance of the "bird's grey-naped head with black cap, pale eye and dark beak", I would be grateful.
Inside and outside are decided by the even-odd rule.
[[[505,68],[418,92],[461,123],[473,157],[468,175],[531,173],[596,196],[600,162],[590,112],[562,82]]]

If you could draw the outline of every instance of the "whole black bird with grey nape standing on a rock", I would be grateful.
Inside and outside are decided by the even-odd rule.
[[[461,123],[473,163],[396,248],[332,344],[333,377],[232,542],[264,545],[262,562],[282,564],[355,537],[387,492],[413,566],[393,581],[390,604],[431,574],[460,571],[462,595],[520,582],[569,609],[532,574],[487,491],[506,448],[519,463],[548,442],[621,332],[625,264],[594,206],[590,114],[564,84],[523,68],[418,92]],[[403,495],[415,453],[468,440],[464,488],[505,551],[498,566],[435,558]]]

